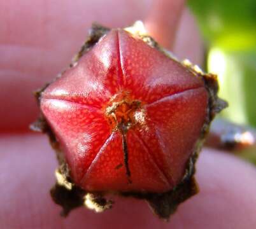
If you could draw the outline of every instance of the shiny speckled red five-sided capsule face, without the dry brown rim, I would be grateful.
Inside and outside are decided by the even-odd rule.
[[[124,133],[106,112],[120,101],[131,108],[125,120],[124,110],[113,112],[131,123],[125,132],[129,179]],[[132,101],[139,106],[132,108]],[[123,30],[108,32],[41,94],[71,176],[87,191],[171,190],[184,176],[207,103],[201,78]]]

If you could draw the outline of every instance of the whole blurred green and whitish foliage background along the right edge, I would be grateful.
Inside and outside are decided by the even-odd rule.
[[[217,73],[222,116],[256,127],[256,1],[190,0],[208,48],[207,71]]]

